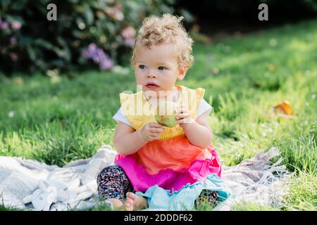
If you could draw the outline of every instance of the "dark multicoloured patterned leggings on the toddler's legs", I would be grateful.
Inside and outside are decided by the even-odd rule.
[[[123,201],[129,191],[134,192],[128,176],[118,165],[111,165],[102,169],[97,176],[97,185],[99,196],[104,199],[117,198]],[[206,201],[209,205],[216,205],[218,197],[216,191],[203,190],[195,200],[194,205],[197,207],[198,204]]]

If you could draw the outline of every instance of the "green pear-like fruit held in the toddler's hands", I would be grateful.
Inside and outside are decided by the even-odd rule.
[[[177,125],[175,116],[176,103],[173,101],[162,101],[156,107],[155,120],[166,127],[175,127]]]

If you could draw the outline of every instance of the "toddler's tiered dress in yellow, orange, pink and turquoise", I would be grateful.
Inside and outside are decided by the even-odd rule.
[[[196,119],[205,90],[175,86],[181,91],[178,103],[186,105],[191,117]],[[142,91],[136,94],[121,93],[120,103],[123,114],[135,130],[141,129],[147,122],[156,122],[151,105]],[[138,195],[149,199],[155,193],[154,188],[166,190],[167,198],[171,198],[173,193],[181,194],[186,187],[192,190],[222,190],[210,189],[210,185],[205,184],[210,181],[208,176],[212,176],[211,180],[220,181],[221,165],[215,147],[212,143],[204,149],[192,145],[179,124],[172,128],[165,127],[159,140],[149,141],[136,153],[117,155],[115,164],[123,168]],[[196,191],[195,195],[200,191]],[[224,191],[223,197],[228,197],[228,193]]]

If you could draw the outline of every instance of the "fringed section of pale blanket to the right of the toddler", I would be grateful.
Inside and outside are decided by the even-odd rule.
[[[288,180],[291,174],[282,158],[274,164],[271,159],[279,157],[280,151],[273,147],[266,153],[258,153],[254,158],[243,160],[240,164],[223,166],[222,179],[230,188],[232,196],[213,210],[228,211],[237,203],[257,203],[275,208],[283,207],[284,196],[289,191]]]

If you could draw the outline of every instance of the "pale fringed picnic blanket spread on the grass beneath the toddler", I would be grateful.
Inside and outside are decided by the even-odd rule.
[[[113,164],[115,155],[111,146],[104,145],[92,158],[64,167],[0,156],[0,204],[20,210],[89,210],[101,203],[97,175]],[[271,148],[239,165],[223,166],[222,179],[230,198],[213,210],[232,210],[241,201],[280,207],[290,174],[280,165],[282,158],[271,165],[270,160],[279,155],[277,148]]]

